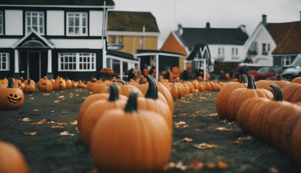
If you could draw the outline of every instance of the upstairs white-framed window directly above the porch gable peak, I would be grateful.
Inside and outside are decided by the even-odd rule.
[[[34,29],[39,34],[44,35],[44,12],[26,11],[26,33]]]

